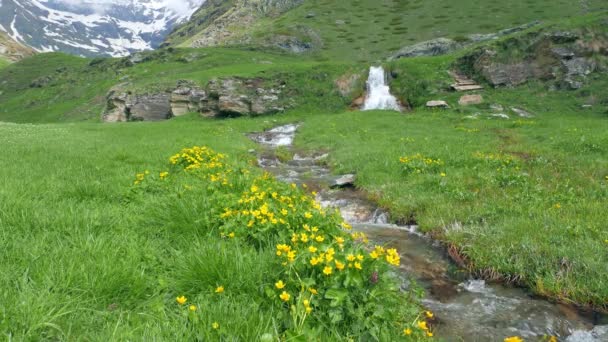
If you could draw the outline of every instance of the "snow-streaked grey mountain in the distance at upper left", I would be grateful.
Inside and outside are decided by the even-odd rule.
[[[0,31],[39,51],[125,56],[158,47],[205,0],[0,0]]]

